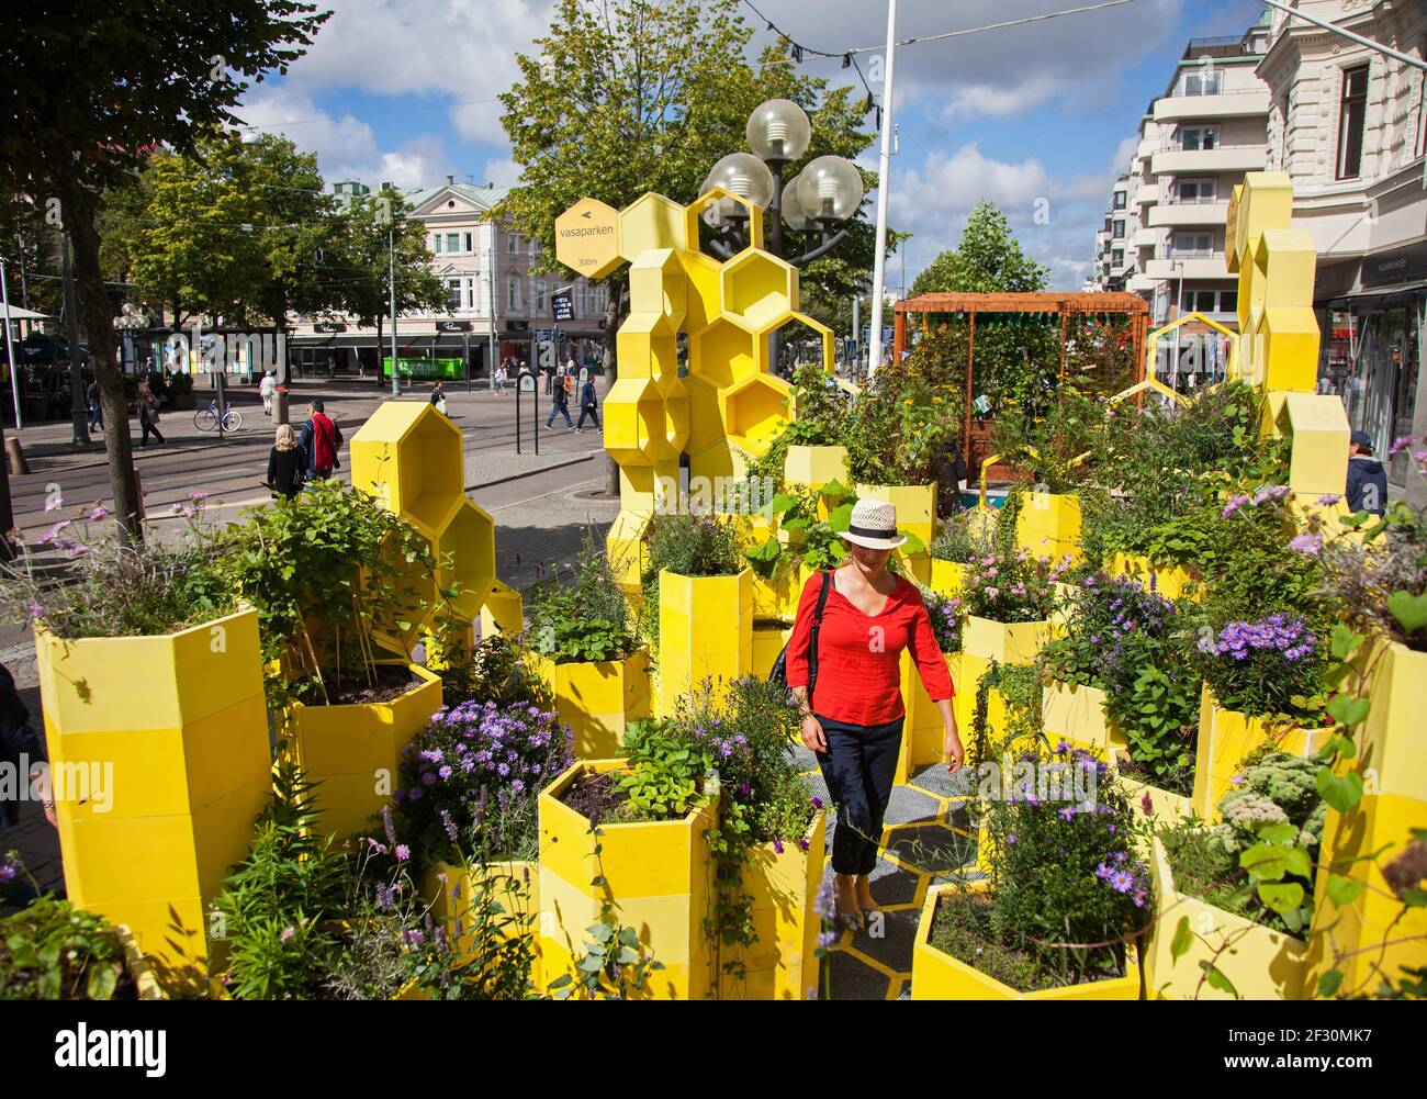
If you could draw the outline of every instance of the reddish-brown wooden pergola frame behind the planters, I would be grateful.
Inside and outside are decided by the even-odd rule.
[[[966,418],[962,424],[962,457],[970,464],[972,450],[972,373],[976,363],[977,313],[1055,313],[1060,317],[1060,378],[1066,375],[1066,334],[1070,317],[1123,313],[1130,318],[1130,351],[1134,361],[1134,381],[1144,381],[1144,341],[1150,330],[1150,304],[1139,294],[922,294],[896,303],[896,337],[892,354],[902,361],[908,348],[908,314],[922,315],[922,331],[930,328],[932,313],[965,313],[970,318],[966,351]]]

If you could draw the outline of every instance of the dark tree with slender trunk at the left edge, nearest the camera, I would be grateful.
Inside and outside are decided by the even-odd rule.
[[[0,69],[14,76],[0,190],[31,196],[73,241],[114,510],[130,538],[143,535],[100,261],[103,196],[151,150],[193,153],[201,136],[240,123],[248,80],[285,73],[330,14],[294,0],[34,0],[0,14]]]

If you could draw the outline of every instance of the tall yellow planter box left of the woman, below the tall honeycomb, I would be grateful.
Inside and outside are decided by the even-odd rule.
[[[736,577],[659,574],[658,712],[712,679],[721,694],[753,669],[753,571]]]

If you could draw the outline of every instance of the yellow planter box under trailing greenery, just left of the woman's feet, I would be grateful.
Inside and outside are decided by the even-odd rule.
[[[803,834],[806,851],[785,844],[778,854],[772,844],[761,844],[743,866],[758,942],[742,955],[742,978],[719,973],[723,999],[806,999],[808,989],[818,988],[822,918],[815,909],[828,856],[826,828],[823,809]]]

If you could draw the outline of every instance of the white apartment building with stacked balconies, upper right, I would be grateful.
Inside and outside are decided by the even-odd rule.
[[[1266,16],[1240,36],[1190,40],[1164,94],[1140,118],[1129,170],[1112,188],[1096,233],[1095,284],[1140,294],[1156,324],[1202,313],[1237,325],[1224,223],[1234,184],[1267,164],[1269,90],[1257,66],[1269,30]],[[1160,348],[1160,374],[1172,371],[1176,345],[1187,384],[1223,367],[1223,340],[1192,321]]]

